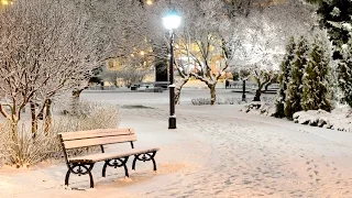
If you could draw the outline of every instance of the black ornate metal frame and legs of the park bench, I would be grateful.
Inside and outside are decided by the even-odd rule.
[[[121,129],[119,129],[119,130],[121,130]],[[133,129],[125,129],[125,130],[129,130],[129,131],[133,132],[133,134],[134,134],[134,130]],[[97,131],[97,130],[90,130],[90,131]],[[90,132],[90,131],[86,131],[86,132]],[[127,163],[129,161],[129,157],[132,156],[132,155],[134,156],[134,160],[133,160],[133,163],[132,163],[132,169],[135,170],[136,161],[142,161],[142,162],[152,161],[153,162],[153,170],[156,172],[156,163],[155,163],[154,157],[155,157],[155,154],[158,151],[158,148],[152,148],[152,150],[148,150],[146,152],[134,152],[133,151],[133,148],[134,148],[133,141],[124,141],[124,142],[130,142],[131,147],[132,147],[132,152],[129,152],[127,154],[121,154],[119,157],[113,157],[113,158],[109,157],[109,158],[105,158],[105,160],[97,161],[97,162],[85,162],[85,161],[81,161],[81,162],[69,162],[67,150],[79,148],[79,147],[89,147],[89,146],[77,146],[77,147],[66,148],[65,147],[65,140],[63,138],[63,134],[64,133],[59,133],[58,138],[59,138],[59,141],[62,143],[62,148],[63,148],[63,152],[64,152],[66,166],[68,168],[67,173],[66,173],[66,176],[65,176],[65,185],[66,186],[68,186],[68,180],[69,180],[70,174],[75,174],[75,175],[78,175],[78,176],[88,174],[89,175],[89,182],[90,182],[90,188],[94,188],[95,185],[94,185],[94,178],[92,178],[91,169],[94,168],[94,166],[95,166],[95,164],[97,162],[102,162],[102,161],[105,161],[105,164],[102,166],[102,173],[101,173],[102,177],[106,177],[106,172],[107,172],[107,167],[108,166],[114,167],[114,168],[123,167],[124,168],[124,175],[127,177],[129,177],[129,169],[127,167]],[[101,136],[103,136],[103,135],[101,135]],[[84,140],[84,139],[78,139],[78,140]],[[136,140],[134,140],[134,141],[136,141]],[[124,143],[124,142],[116,142],[116,143],[109,143],[109,144],[118,144],[118,143]],[[100,144],[101,153],[106,153],[105,148],[103,148],[103,145],[107,145],[107,144]]]

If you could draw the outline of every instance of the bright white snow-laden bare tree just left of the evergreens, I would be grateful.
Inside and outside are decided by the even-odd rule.
[[[310,8],[299,1],[287,0],[280,4],[253,9],[239,24],[242,30],[242,48],[233,57],[234,70],[251,70],[257,84],[253,100],[275,80],[285,53],[285,43],[292,35],[307,34],[314,26]]]

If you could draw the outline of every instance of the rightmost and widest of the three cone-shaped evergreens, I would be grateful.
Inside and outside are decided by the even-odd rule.
[[[304,74],[304,95],[301,107],[305,111],[322,109],[331,110],[331,92],[329,90],[330,58],[324,45],[318,40],[312,44],[309,61]]]

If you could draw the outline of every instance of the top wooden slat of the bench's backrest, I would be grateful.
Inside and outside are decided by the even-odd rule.
[[[64,141],[80,140],[80,139],[92,139],[99,136],[118,136],[134,134],[133,129],[100,129],[100,130],[88,130],[77,132],[64,132],[59,133]]]

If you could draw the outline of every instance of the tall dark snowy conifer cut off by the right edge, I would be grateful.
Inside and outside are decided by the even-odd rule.
[[[317,13],[321,16],[320,25],[328,30],[332,42],[333,59],[338,61],[339,87],[343,92],[342,100],[352,107],[352,62],[351,29],[352,1],[350,0],[307,0],[318,4]],[[339,99],[339,98],[338,98]]]

